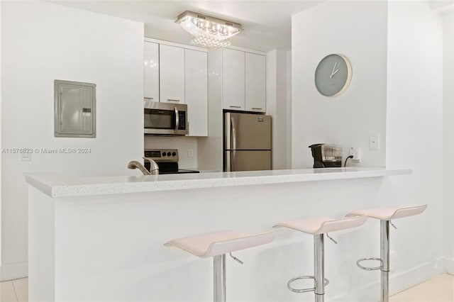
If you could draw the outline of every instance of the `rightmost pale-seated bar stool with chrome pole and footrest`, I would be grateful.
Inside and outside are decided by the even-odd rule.
[[[421,214],[426,208],[426,204],[423,206],[411,206],[407,208],[368,208],[347,214],[347,216],[353,217],[360,215],[380,219],[380,258],[361,258],[358,259],[356,265],[358,265],[360,269],[366,271],[375,269],[380,269],[382,271],[380,280],[382,302],[389,301],[389,223],[396,228],[391,220]],[[377,260],[380,261],[381,265],[380,267],[363,267],[360,262],[365,260]]]

